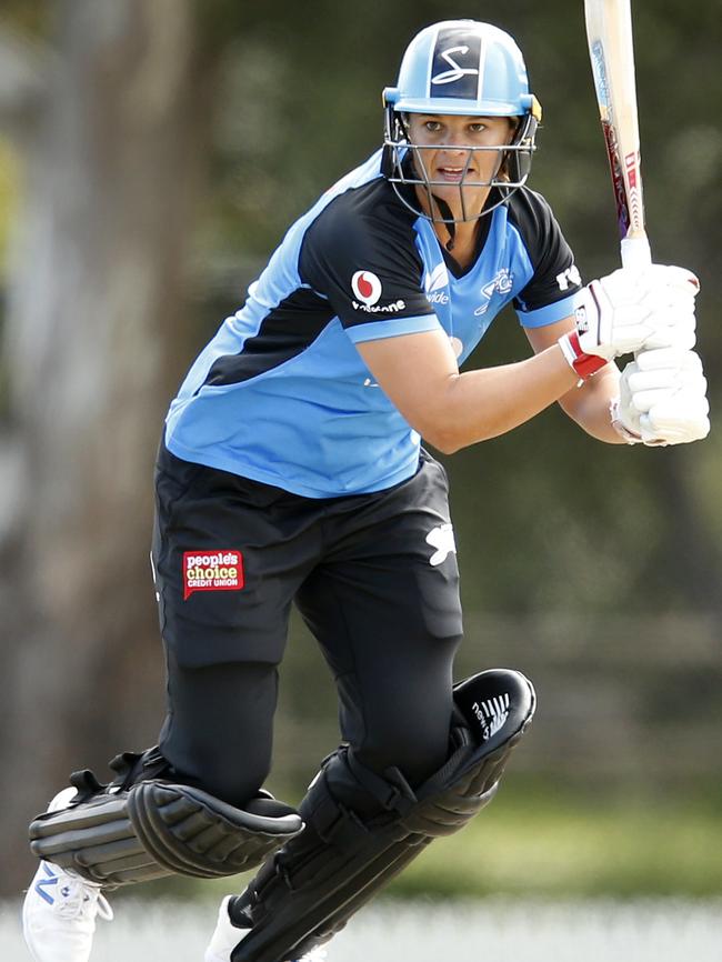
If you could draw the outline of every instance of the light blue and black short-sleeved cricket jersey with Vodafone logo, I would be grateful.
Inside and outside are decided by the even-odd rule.
[[[170,451],[309,498],[410,478],[419,434],[355,344],[441,328],[461,363],[505,304],[540,327],[572,313],[580,290],[540,194],[522,188],[480,223],[460,272],[375,153],[291,227],[198,357],[168,414]]]

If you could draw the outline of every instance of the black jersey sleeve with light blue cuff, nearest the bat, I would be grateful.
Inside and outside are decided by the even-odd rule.
[[[574,254],[544,198],[525,191],[515,206],[517,227],[532,263],[533,275],[513,304],[525,328],[553,324],[574,312],[582,278]]]

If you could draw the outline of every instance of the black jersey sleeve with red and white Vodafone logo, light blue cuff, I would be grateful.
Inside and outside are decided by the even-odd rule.
[[[339,198],[307,232],[299,273],[328,299],[354,343],[440,327],[403,216],[369,214]]]

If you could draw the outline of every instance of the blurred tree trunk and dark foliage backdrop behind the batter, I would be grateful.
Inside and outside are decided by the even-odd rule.
[[[701,278],[714,424],[719,0],[699,0],[694,16],[672,0],[633,7],[653,252]],[[585,277],[611,271],[615,218],[581,2],[4,0],[0,894],[30,872],[26,823],[68,772],[102,770],[151,743],[161,722],[146,559],[154,451],[184,369],[289,223],[378,147],[380,91],[414,32],[461,16],[522,47],[544,107],[531,186]],[[470,364],[527,352],[509,312]],[[622,798],[638,805],[630,838],[642,811],[674,798],[701,805],[703,839],[719,840],[721,443],[713,430],[679,450],[608,448],[554,409],[448,459],[467,611],[458,673],[507,663],[540,693],[509,778],[517,838],[533,824],[553,850],[563,789],[594,809],[602,854]],[[334,712],[320,655],[294,623],[280,793],[298,798],[333,748]],[[596,812],[604,800],[613,814]],[[695,864],[688,889],[722,891],[719,874],[695,883]]]

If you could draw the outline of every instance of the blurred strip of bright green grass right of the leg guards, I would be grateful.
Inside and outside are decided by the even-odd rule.
[[[511,780],[510,780],[511,781]],[[397,895],[722,894],[722,812],[709,800],[501,791],[468,829],[434,842]]]

